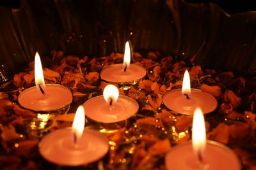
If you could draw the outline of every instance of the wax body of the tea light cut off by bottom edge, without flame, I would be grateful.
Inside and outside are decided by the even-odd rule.
[[[239,159],[230,148],[215,141],[207,141],[203,163],[193,150],[192,143],[174,146],[165,156],[165,166],[168,170],[240,170]]]

